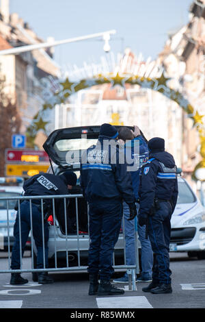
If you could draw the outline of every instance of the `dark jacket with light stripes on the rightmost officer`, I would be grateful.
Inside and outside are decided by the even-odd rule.
[[[154,205],[154,198],[168,200],[172,211],[178,197],[176,164],[173,156],[166,151],[150,154],[148,162],[141,168],[140,213],[149,214]]]

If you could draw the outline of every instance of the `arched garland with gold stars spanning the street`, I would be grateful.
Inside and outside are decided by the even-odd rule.
[[[182,95],[178,90],[174,90],[168,86],[170,78],[165,77],[164,73],[160,77],[144,77],[141,75],[131,75],[129,73],[107,73],[103,75],[102,73],[93,76],[88,79],[81,79],[79,82],[70,82],[68,77],[64,82],[59,83],[59,89],[55,91],[53,97],[44,104],[42,110],[36,114],[33,118],[33,122],[27,128],[27,137],[29,138],[29,143],[33,145],[36,138],[36,134],[39,129],[42,129],[46,133],[47,122],[43,121],[44,112],[48,109],[55,108],[55,105],[66,103],[70,95],[83,90],[85,88],[90,88],[96,85],[111,84],[111,86],[122,86],[125,84],[138,85],[141,88],[147,88],[150,90],[155,90],[161,92],[172,101],[178,103],[178,105],[187,113],[187,116],[193,120],[193,127],[196,127],[197,132],[200,136],[201,149],[200,153],[202,156],[202,161],[197,164],[195,170],[193,171],[193,179],[197,180],[195,173],[197,169],[205,169],[205,126],[204,126],[204,115],[200,115],[189,101]],[[204,178],[205,179],[205,178]]]

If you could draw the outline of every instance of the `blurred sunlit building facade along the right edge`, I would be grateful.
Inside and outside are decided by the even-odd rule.
[[[169,34],[159,63],[172,78],[170,85],[183,93],[195,112],[205,115],[205,0],[193,1],[189,23]],[[201,160],[200,140],[193,121],[186,113],[182,115],[182,170],[191,182],[191,174]]]

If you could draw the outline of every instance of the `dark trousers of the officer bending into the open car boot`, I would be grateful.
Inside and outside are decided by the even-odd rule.
[[[42,216],[38,207],[32,204],[32,228],[33,238],[37,248],[37,269],[44,268],[43,253],[45,253],[45,267],[48,265],[48,240],[49,240],[49,225],[44,223],[44,252],[42,238]],[[21,248],[22,256],[25,249],[25,244],[31,230],[30,207],[29,201],[23,201],[20,204],[20,229],[21,229]],[[14,224],[14,246],[12,247],[12,262],[11,269],[20,269],[20,232],[19,232],[19,213],[17,212],[16,221]]]

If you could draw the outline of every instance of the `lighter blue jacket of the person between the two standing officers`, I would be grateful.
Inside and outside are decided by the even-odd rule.
[[[133,140],[128,141],[128,143],[126,143],[124,147],[126,149],[126,153],[128,153],[128,155],[131,155],[131,159],[133,161],[129,163],[131,163],[130,172],[135,199],[137,200],[139,197],[139,174],[141,167],[149,159],[148,145],[142,136],[137,136]],[[129,149],[131,149],[131,151],[128,151]]]

